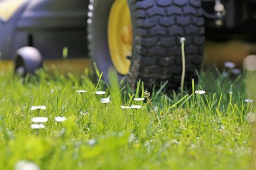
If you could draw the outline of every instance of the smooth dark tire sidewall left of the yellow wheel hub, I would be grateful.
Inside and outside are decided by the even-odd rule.
[[[92,64],[97,64],[104,81],[108,80],[108,69],[114,67],[107,42],[107,22],[113,2],[113,0],[90,0],[87,20],[89,57]],[[122,79],[121,75],[119,79]]]

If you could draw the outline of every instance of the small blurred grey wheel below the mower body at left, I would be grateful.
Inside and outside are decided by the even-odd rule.
[[[21,47],[16,51],[14,71],[25,77],[34,74],[43,65],[41,53],[35,47]]]

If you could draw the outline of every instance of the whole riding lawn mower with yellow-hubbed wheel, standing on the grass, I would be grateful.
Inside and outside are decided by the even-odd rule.
[[[189,87],[205,39],[254,41],[255,9],[256,0],[0,0],[1,60],[28,74],[68,51],[68,60],[89,57],[105,81],[114,68],[132,87],[178,89],[184,38]]]

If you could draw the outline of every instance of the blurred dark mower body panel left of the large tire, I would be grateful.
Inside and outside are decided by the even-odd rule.
[[[16,60],[21,47],[34,47],[43,60],[63,59],[63,49],[68,59],[87,57],[87,6],[84,0],[20,2],[11,16],[0,16],[0,59]]]

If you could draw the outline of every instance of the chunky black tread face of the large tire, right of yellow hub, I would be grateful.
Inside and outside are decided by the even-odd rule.
[[[169,88],[181,83],[181,43],[186,38],[186,86],[197,80],[203,62],[204,20],[200,0],[128,0],[134,29],[132,64],[127,75],[135,86],[169,81]]]

